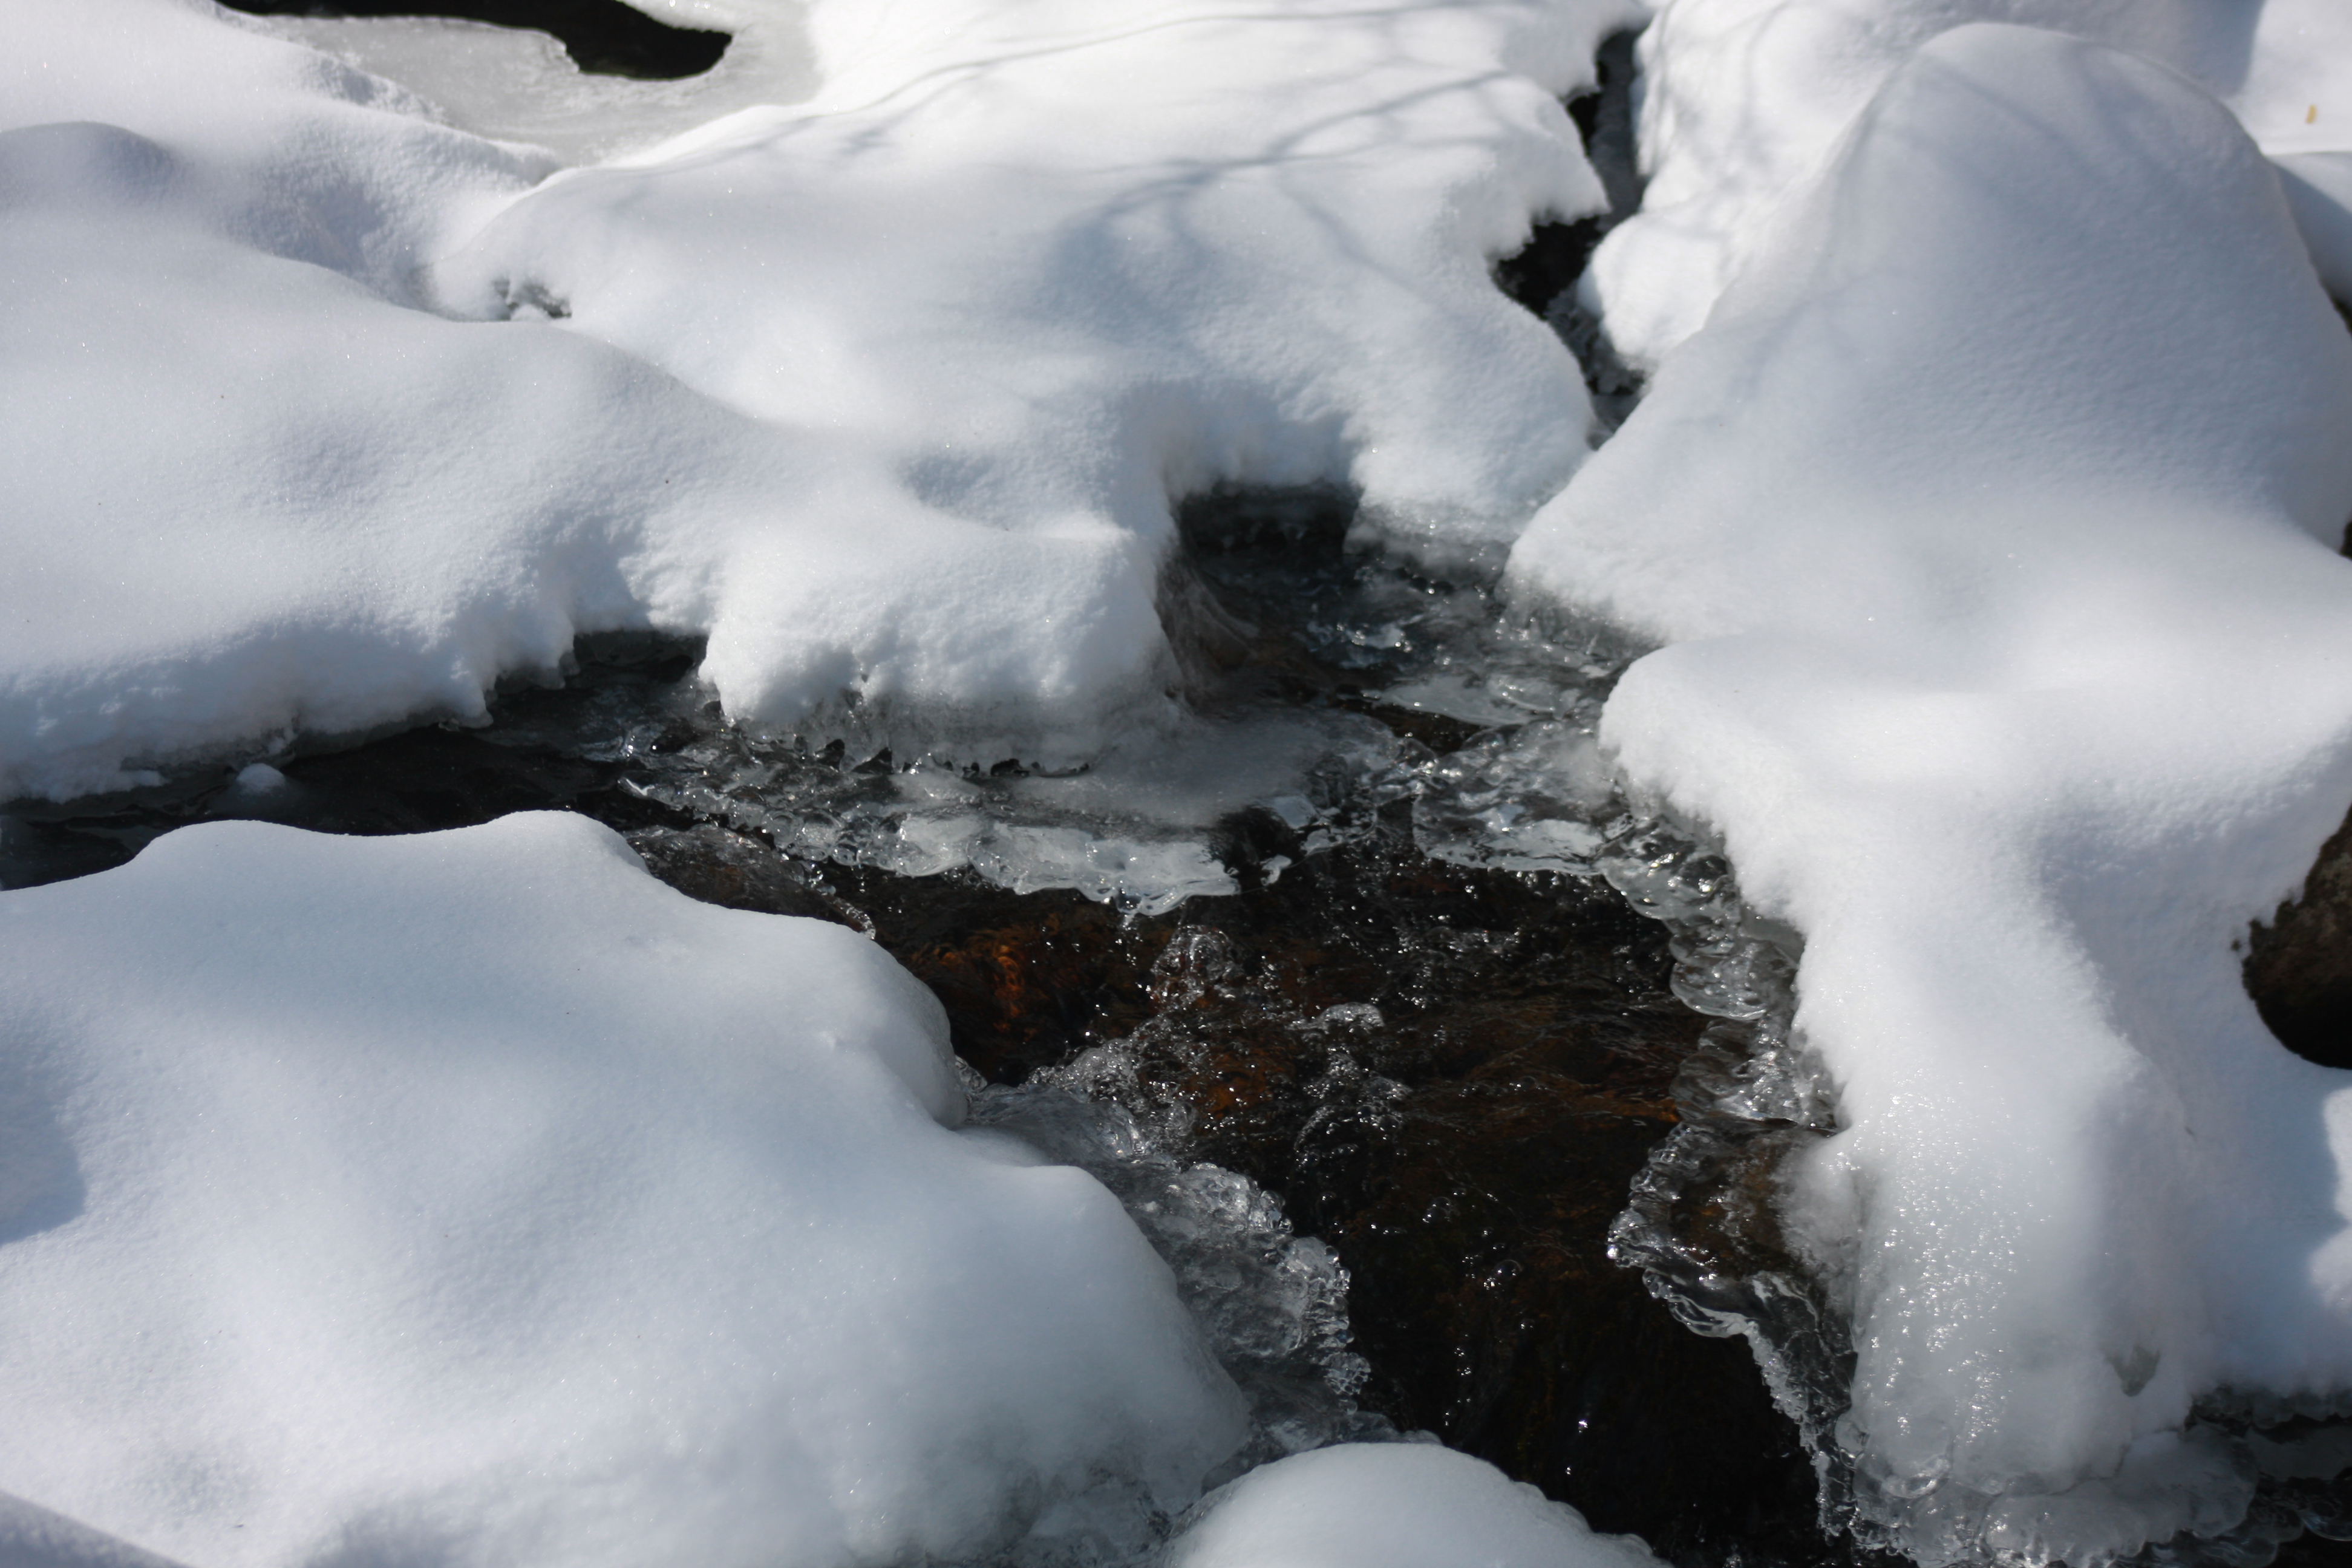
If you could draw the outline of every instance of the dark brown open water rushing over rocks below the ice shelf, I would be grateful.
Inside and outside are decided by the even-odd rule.
[[[1444,865],[1388,830],[1122,919],[804,867],[713,825],[630,842],[689,893],[868,929],[985,1077],[1115,1100],[1275,1192],[1350,1272],[1367,1408],[1670,1561],[1863,1561],[1820,1537],[1748,1347],[1691,1335],[1609,1260],[1705,1020],[1668,987],[1668,933],[1606,886]]]

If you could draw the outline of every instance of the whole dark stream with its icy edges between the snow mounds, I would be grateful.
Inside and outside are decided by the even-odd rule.
[[[1616,40],[1578,106],[1621,209],[1628,80]],[[1557,303],[1595,237],[1545,230],[1501,282]],[[1590,322],[1555,324],[1623,418]],[[931,985],[974,1121],[1091,1171],[1169,1260],[1251,1401],[1225,1474],[1435,1434],[1691,1568],[1891,1561],[1835,1441],[1844,1326],[1773,1213],[1780,1157],[1835,1128],[1795,933],[1616,790],[1592,731],[1625,649],[1512,621],[1494,562],[1350,550],[1350,510],[1195,498],[1162,592],[1183,698],[1075,773],[811,752],[729,726],[696,646],[607,637],[482,729],[19,804],[0,884],[221,816],[583,811],[673,886],[856,926]],[[1169,1523],[1077,1502],[1004,1561],[1134,1563]],[[2279,1479],[2150,1561],[2314,1566],[2326,1537],[2352,1493]]]

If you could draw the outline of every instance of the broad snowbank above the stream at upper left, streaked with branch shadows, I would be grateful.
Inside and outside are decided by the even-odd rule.
[[[202,0],[7,7],[0,797],[621,628],[741,719],[1068,762],[1174,675],[1171,496],[1465,548],[1583,458],[1486,263],[1599,202],[1555,94],[1630,0],[677,14],[746,40],[703,108],[797,101],[550,176]]]

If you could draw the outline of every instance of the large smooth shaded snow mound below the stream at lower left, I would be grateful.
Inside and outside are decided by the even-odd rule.
[[[0,893],[0,1493],[169,1559],[953,1559],[1242,1436],[915,980],[583,818]]]

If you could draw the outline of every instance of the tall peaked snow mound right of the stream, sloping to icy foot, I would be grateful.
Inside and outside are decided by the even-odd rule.
[[[2223,1392],[2352,1394],[2352,1074],[2237,976],[2352,799],[2352,341],[2183,78],[1915,54],[1512,585],[1672,644],[1602,738],[1804,931],[1790,1220],[1938,1563],[2244,1509]]]

